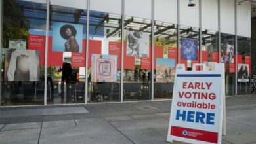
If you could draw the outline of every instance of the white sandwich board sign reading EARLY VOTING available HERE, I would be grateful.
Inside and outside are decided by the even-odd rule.
[[[196,66],[203,70],[196,71]],[[221,143],[224,86],[223,63],[215,63],[213,71],[207,71],[204,64],[194,64],[192,71],[186,71],[184,64],[178,64],[167,141]]]

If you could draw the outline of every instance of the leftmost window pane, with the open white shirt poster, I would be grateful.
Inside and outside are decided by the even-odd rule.
[[[1,105],[43,104],[46,13],[43,4],[3,1]]]

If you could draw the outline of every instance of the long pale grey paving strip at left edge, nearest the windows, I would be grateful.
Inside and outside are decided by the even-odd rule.
[[[72,113],[89,113],[85,107],[56,107],[39,109],[9,109],[0,110],[0,117],[19,117],[33,115],[61,115]]]

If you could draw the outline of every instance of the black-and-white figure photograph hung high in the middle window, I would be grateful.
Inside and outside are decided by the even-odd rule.
[[[149,57],[149,33],[127,31],[127,56]]]

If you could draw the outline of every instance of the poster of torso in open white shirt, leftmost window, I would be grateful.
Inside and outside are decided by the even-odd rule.
[[[39,81],[40,52],[9,49],[5,52],[5,81]]]

